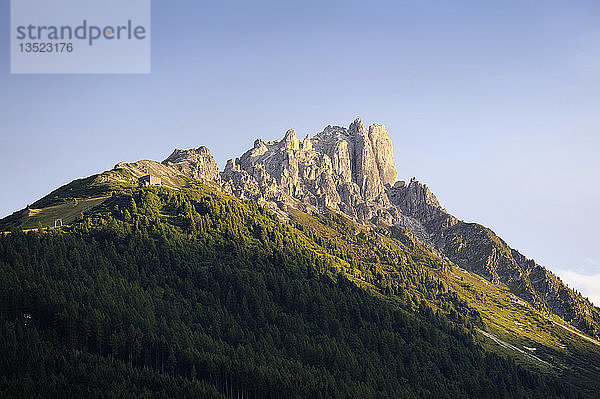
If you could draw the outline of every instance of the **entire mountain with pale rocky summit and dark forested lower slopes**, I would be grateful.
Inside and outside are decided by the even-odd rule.
[[[600,310],[397,179],[357,119],[59,187],[0,221],[0,396],[594,397]]]

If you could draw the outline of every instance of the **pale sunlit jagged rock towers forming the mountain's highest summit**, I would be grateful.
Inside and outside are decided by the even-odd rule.
[[[330,208],[360,222],[400,223],[380,173],[388,181],[396,176],[391,139],[377,126],[372,136],[381,149],[374,148],[360,119],[347,129],[327,126],[302,142],[293,129],[278,141],[257,139],[252,149],[227,162],[221,179],[241,198],[302,210]]]

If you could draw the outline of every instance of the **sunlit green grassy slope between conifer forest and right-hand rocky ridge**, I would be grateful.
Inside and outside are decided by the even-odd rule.
[[[371,271],[365,275],[355,270],[349,273],[351,278],[374,283],[371,284],[373,289],[392,297],[401,297],[408,290],[450,318],[474,314],[474,320],[480,320],[476,323],[478,328],[513,347],[507,348],[478,334],[488,349],[546,372],[573,372],[573,375],[585,376],[586,381],[600,376],[600,342],[559,317],[532,308],[504,284],[491,284],[474,273],[450,266],[447,260],[429,252],[406,232],[394,228],[367,232],[339,215],[314,217],[297,213],[294,220],[315,241],[327,243],[331,253],[360,265],[361,270]],[[411,270],[415,257],[419,259],[419,256],[421,260],[417,263],[426,267]],[[416,281],[414,276],[418,276]],[[411,279],[412,282],[407,282]],[[435,287],[436,281],[442,289],[437,287],[437,294],[433,295],[430,287]],[[458,308],[439,301],[440,297],[454,295],[458,300],[452,305]],[[586,357],[586,354],[593,355]]]

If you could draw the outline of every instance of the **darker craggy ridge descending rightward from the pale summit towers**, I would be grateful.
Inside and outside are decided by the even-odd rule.
[[[539,310],[552,312],[593,337],[600,336],[600,310],[554,274],[510,248],[490,229],[448,214],[426,185],[411,180],[390,190],[403,215],[416,221],[422,239],[493,283],[503,282]]]

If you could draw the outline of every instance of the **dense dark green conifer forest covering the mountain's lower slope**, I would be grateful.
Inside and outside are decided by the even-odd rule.
[[[4,234],[0,396],[593,397],[485,351],[477,311],[427,271],[444,260],[396,233],[379,239],[405,250],[357,235],[385,258],[367,262],[197,185]]]

